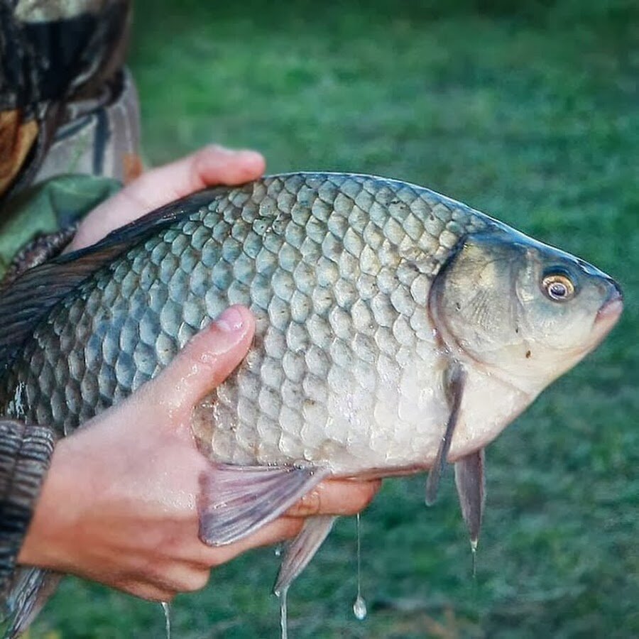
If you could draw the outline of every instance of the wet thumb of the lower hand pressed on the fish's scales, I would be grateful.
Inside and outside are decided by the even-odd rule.
[[[157,378],[140,388],[140,400],[190,410],[234,371],[249,350],[254,332],[255,320],[246,307],[227,308],[192,337]]]

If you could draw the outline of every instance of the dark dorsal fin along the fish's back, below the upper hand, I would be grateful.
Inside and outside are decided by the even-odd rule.
[[[0,290],[0,371],[43,316],[90,275],[132,246],[197,210],[211,199],[204,191],[156,209],[111,231],[86,249],[67,253],[20,275]]]

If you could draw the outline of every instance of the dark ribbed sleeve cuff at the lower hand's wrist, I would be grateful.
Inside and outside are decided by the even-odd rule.
[[[0,598],[31,523],[54,438],[50,428],[0,420]]]

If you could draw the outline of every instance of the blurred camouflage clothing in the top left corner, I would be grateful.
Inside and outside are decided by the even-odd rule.
[[[0,206],[52,175],[138,170],[130,17],[130,0],[0,0]]]

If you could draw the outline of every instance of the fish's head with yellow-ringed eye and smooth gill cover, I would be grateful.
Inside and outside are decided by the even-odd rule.
[[[453,356],[532,398],[601,342],[622,300],[606,273],[498,226],[460,241],[429,304]]]

